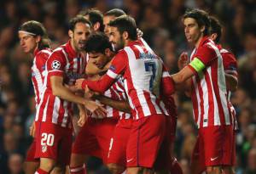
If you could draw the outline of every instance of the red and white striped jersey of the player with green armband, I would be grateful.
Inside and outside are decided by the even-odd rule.
[[[221,53],[212,40],[203,37],[193,51],[190,61],[200,59],[206,69],[192,78],[192,103],[198,127],[231,125],[232,118],[227,99],[224,64]]]

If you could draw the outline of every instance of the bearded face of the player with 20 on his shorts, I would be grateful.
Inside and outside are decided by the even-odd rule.
[[[90,25],[79,22],[75,25],[74,31],[69,31],[71,42],[77,52],[84,50],[86,39],[90,35]]]

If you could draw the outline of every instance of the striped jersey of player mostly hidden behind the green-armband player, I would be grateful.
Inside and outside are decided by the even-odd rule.
[[[222,55],[222,59],[223,59],[223,63],[224,63],[224,72],[238,78],[237,62],[236,62],[235,55],[233,53],[230,53],[228,50],[222,48],[221,45],[218,45],[218,49]],[[227,97],[228,97],[228,102],[229,102],[229,106],[230,106],[230,113],[232,115],[232,125],[234,125],[235,129],[237,130],[238,123],[236,120],[236,109],[230,102],[230,96],[231,96],[231,92],[230,92],[230,90],[227,90]]]

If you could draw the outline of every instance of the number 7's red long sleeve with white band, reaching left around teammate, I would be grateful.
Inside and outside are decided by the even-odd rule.
[[[93,91],[104,93],[109,87],[111,87],[113,82],[119,78],[119,76],[124,74],[127,65],[127,54],[121,51],[113,58],[107,73],[102,76],[102,79],[99,81],[85,80],[82,84],[82,88],[85,88],[87,85]]]

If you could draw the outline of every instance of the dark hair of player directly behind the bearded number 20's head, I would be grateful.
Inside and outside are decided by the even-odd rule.
[[[103,14],[100,10],[92,8],[88,10],[82,10],[79,15],[89,16],[90,23],[92,25],[95,25],[97,22],[100,24],[100,29],[99,31],[104,31],[104,26],[103,26]]]

